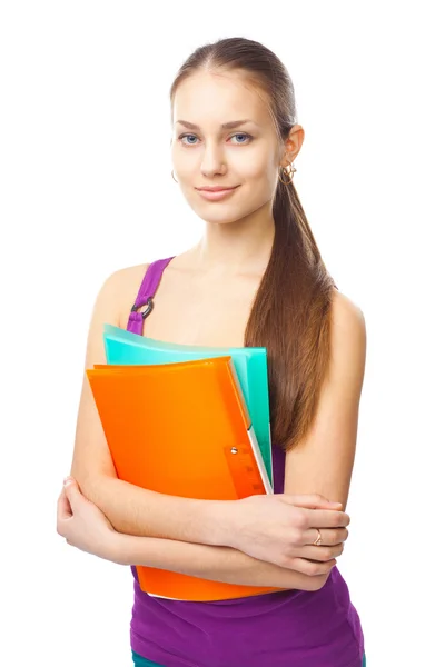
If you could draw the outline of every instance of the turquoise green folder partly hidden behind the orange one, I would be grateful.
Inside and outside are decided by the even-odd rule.
[[[267,475],[274,488],[265,347],[225,348],[178,345],[147,338],[113,325],[103,325],[103,344],[107,364],[110,365],[177,364],[191,359],[231,356]]]

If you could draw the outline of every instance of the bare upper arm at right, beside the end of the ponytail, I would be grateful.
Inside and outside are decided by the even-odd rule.
[[[285,492],[316,490],[346,508],[365,377],[366,323],[358,306],[333,291],[329,374],[307,437],[286,454]]]

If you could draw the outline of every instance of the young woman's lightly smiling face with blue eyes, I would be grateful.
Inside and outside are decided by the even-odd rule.
[[[237,127],[224,127],[240,120]],[[233,222],[271,200],[280,157],[268,107],[241,77],[206,72],[178,87],[172,166],[185,198],[200,218]],[[215,200],[199,192],[216,186],[236,189]]]

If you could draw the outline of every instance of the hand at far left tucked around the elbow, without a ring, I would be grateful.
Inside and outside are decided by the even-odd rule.
[[[105,514],[79,489],[72,477],[57,501],[57,531],[72,547],[119,563],[119,536]]]

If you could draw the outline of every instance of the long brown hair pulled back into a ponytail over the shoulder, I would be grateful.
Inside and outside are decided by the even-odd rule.
[[[185,79],[209,69],[246,76],[266,96],[277,135],[287,139],[296,123],[294,86],[273,51],[240,37],[199,47],[171,84],[171,104]],[[251,307],[245,346],[267,348],[271,439],[288,450],[305,438],[315,418],[328,372],[337,286],[322,260],[294,182],[286,186],[278,180],[273,216],[274,245]]]

